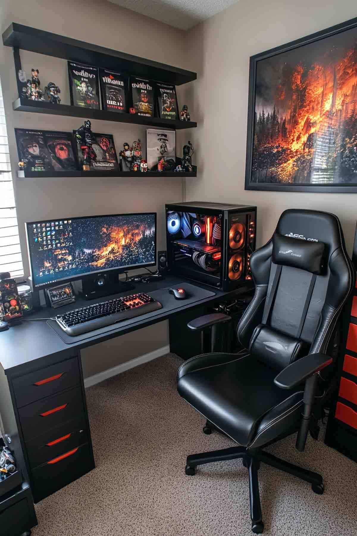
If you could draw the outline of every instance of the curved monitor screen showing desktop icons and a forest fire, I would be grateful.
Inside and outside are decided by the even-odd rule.
[[[26,223],[34,287],[156,264],[156,213]]]

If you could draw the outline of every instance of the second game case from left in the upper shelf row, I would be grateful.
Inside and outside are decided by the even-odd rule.
[[[102,109],[125,114],[127,111],[127,78],[118,72],[99,70],[101,81]]]

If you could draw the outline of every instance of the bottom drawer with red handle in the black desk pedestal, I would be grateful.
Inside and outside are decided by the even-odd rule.
[[[57,492],[73,480],[94,469],[94,460],[88,443],[63,452],[32,470],[34,502]]]

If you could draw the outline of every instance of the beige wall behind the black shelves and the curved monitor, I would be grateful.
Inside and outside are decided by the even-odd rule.
[[[2,0],[0,2],[1,31],[12,22],[37,27],[48,32],[99,44],[126,53],[154,59],[185,68],[184,32],[158,23],[153,19],[120,9],[118,6],[93,0]],[[43,43],[45,51],[46,43]],[[55,81],[62,90],[64,104],[70,103],[67,62],[49,56],[21,52],[27,75],[31,68],[40,69],[41,85]],[[179,178],[37,178],[18,179],[17,151],[14,128],[37,128],[71,131],[82,121],[73,117],[14,112],[12,101],[17,98],[12,50],[0,44],[0,77],[9,135],[11,163],[18,209],[21,247],[25,271],[28,262],[24,222],[59,216],[81,216],[120,212],[156,211],[158,214],[159,249],[165,247],[165,203],[183,199],[183,180]],[[178,98],[180,88],[178,88]],[[145,146],[145,128],[140,125],[93,121],[93,130],[113,133],[117,151],[123,142],[141,138]],[[181,146],[178,146],[178,154]],[[83,350],[85,376],[115,366],[137,355],[168,344],[166,322],[140,332],[107,341]]]

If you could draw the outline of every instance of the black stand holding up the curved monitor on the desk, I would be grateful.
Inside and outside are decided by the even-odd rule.
[[[128,293],[135,286],[128,281],[119,281],[120,272],[103,272],[95,277],[86,277],[82,279],[82,292],[80,293],[85,300],[95,300],[110,294]]]

